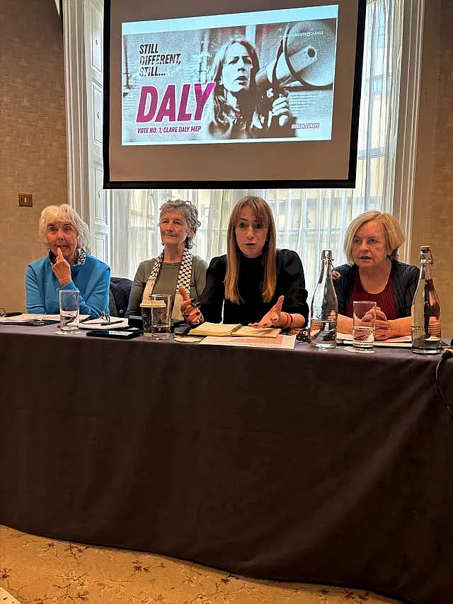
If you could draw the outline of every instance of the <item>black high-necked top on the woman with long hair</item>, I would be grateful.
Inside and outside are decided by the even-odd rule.
[[[205,321],[212,323],[256,323],[263,319],[279,296],[284,295],[282,310],[299,313],[307,321],[309,307],[306,304],[304,269],[299,256],[288,249],[277,250],[275,254],[277,283],[270,302],[263,302],[263,256],[246,258],[241,256],[239,267],[239,304],[225,300],[226,255],[212,258],[206,273],[206,287],[202,293],[201,312]]]

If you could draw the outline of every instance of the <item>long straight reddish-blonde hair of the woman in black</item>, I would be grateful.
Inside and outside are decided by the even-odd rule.
[[[277,267],[275,264],[275,223],[269,205],[260,197],[248,195],[239,200],[231,212],[226,234],[226,276],[225,276],[225,298],[235,304],[239,304],[239,264],[241,262],[241,251],[236,241],[236,225],[243,207],[250,207],[256,216],[256,220],[263,222],[268,227],[268,237],[263,247],[264,276],[261,295],[264,302],[270,302],[275,293],[277,283]]]

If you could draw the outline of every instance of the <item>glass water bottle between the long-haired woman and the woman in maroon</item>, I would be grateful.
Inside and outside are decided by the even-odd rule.
[[[314,348],[335,348],[337,345],[338,300],[332,269],[332,251],[323,249],[321,275],[310,309],[310,340]]]

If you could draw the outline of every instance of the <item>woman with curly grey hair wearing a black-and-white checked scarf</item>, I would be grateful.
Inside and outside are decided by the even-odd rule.
[[[168,200],[161,205],[159,227],[164,251],[156,258],[139,264],[130,292],[127,317],[140,314],[140,303],[153,294],[171,294],[173,321],[183,319],[179,288],[199,297],[205,289],[206,263],[193,256],[190,248],[200,226],[198,211],[190,201]]]

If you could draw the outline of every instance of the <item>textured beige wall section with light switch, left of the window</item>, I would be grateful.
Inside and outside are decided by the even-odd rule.
[[[67,202],[63,38],[54,0],[1,0],[0,11],[0,306],[21,310],[25,268],[45,251],[40,212]]]

